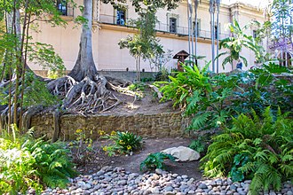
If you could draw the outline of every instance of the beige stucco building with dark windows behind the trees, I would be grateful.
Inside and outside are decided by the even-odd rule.
[[[76,0],[77,4],[82,4],[82,0]],[[125,9],[115,10],[111,4],[102,4],[99,0],[93,0],[93,32],[92,32],[92,50],[98,70],[135,70],[135,59],[131,57],[127,49],[119,48],[119,41],[127,35],[133,35],[136,30],[128,27],[130,19],[137,19],[138,15],[134,12],[131,3],[124,4]],[[198,8],[198,50],[197,55],[206,56],[205,60],[211,59],[211,39],[210,39],[210,12],[209,1],[202,0]],[[41,43],[50,43],[63,58],[67,70],[75,65],[79,49],[79,40],[81,27],[76,27],[73,22],[74,17],[81,14],[77,8],[70,6],[59,7],[67,20],[67,27],[51,27],[44,22],[39,23],[40,33],[32,32],[34,40]],[[215,14],[216,15],[216,14]],[[156,24],[157,37],[161,40],[163,50],[172,52],[175,55],[178,51],[189,51],[188,47],[188,19],[187,19],[187,1],[182,1],[178,8],[172,11],[158,10],[158,22]],[[257,20],[263,23],[266,19],[261,10],[246,4],[221,4],[219,13],[219,38],[225,38],[230,35],[226,30],[226,25],[234,19],[238,20],[241,27],[248,24],[251,20]],[[246,34],[253,35],[253,28],[246,30]],[[263,42],[265,44],[265,41]],[[264,45],[265,46],[265,45]],[[266,46],[265,46],[266,48]],[[242,55],[248,59],[249,66],[254,66],[254,54],[246,49],[242,50]],[[223,70],[219,58],[219,72],[231,70],[227,65]],[[200,65],[204,65],[204,60]],[[42,67],[30,64],[34,70],[41,70]],[[170,58],[165,66],[177,67],[177,61]],[[235,67],[235,65],[234,65]],[[234,68],[233,67],[233,68]],[[145,71],[154,71],[148,61],[142,62],[142,69]],[[249,67],[243,67],[247,69]]]

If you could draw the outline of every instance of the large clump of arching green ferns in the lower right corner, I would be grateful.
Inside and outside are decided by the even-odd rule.
[[[263,118],[251,113],[233,118],[232,129],[213,138],[202,159],[204,175],[252,179],[251,194],[270,187],[280,191],[281,182],[293,178],[293,121],[280,109],[273,116],[270,107]]]

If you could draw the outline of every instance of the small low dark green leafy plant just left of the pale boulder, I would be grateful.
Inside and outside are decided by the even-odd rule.
[[[155,169],[155,168],[165,168],[164,160],[170,159],[174,161],[174,157],[170,154],[165,154],[162,152],[155,152],[151,153],[147,156],[147,159],[142,161],[140,163],[140,170],[143,170],[144,168],[148,169]]]

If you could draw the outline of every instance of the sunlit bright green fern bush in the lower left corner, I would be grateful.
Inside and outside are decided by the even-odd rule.
[[[76,175],[68,151],[62,143],[42,138],[12,135],[0,138],[0,193],[26,193],[29,188],[40,192],[43,185],[66,187],[68,177]]]

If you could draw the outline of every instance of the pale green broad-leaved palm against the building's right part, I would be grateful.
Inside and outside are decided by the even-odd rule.
[[[256,58],[260,58],[260,46],[257,45],[256,41],[251,35],[244,34],[244,30],[248,27],[249,25],[241,28],[237,20],[234,20],[233,24],[229,24],[230,31],[234,34],[234,36],[227,37],[226,39],[221,40],[221,42],[219,43],[219,49],[221,50],[222,48],[225,48],[228,51],[222,52],[217,56],[217,58],[219,58],[220,56],[228,55],[226,58],[224,58],[222,62],[223,67],[225,67],[227,63],[230,63],[233,68],[233,61],[238,60],[239,58],[242,59],[245,66],[248,66],[247,59],[240,55],[243,47],[254,51]]]

